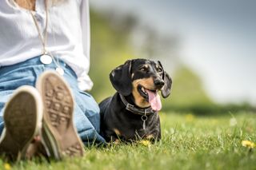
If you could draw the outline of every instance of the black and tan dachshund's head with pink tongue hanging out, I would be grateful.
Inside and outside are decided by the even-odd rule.
[[[112,70],[110,81],[123,96],[132,94],[135,105],[141,108],[151,106],[155,111],[162,107],[158,91],[166,98],[170,95],[172,84],[160,61],[146,59],[126,61]]]

